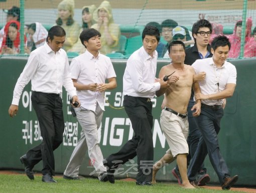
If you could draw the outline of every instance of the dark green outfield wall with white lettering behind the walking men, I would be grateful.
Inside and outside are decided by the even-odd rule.
[[[31,84],[29,83],[22,94],[19,112],[14,118],[9,117],[8,109],[12,102],[13,89],[15,83],[22,72],[27,57],[2,57],[0,58],[0,78],[1,78],[1,104],[0,104],[0,168],[1,169],[24,169],[19,157],[29,148],[41,142],[39,125],[34,109],[32,108],[30,95]],[[111,105],[116,108],[122,106],[122,75],[126,60],[112,59],[117,75],[117,88],[105,92],[105,96]],[[227,99],[224,109],[224,117],[221,122],[219,132],[220,150],[225,158],[230,174],[238,174],[240,185],[256,185],[256,130],[255,130],[255,95],[256,95],[256,58],[241,60],[231,60],[237,69],[237,86],[231,98]],[[168,64],[167,60],[159,60],[157,74],[160,68]],[[65,131],[63,143],[54,152],[56,172],[63,173],[68,163],[69,157],[80,136],[81,127],[75,117],[71,116],[68,110],[68,97],[63,89],[63,110],[65,118]],[[168,149],[168,144],[160,128],[160,113],[163,97],[154,98],[153,101],[153,141],[154,141],[154,161],[160,159]],[[113,109],[105,103],[105,112],[99,129],[99,140],[103,156],[116,152],[133,135],[130,119],[124,109]],[[69,136],[69,139],[68,139]],[[92,160],[93,162],[93,160]],[[117,172],[119,177],[136,176],[136,159],[131,160]],[[171,174],[175,163],[167,165],[157,174],[158,180],[176,181]],[[211,176],[211,183],[218,183],[218,178],[214,172],[208,157],[206,167]],[[40,162],[35,166],[35,170],[42,169]],[[85,159],[80,167],[81,175],[90,175],[94,172],[88,153],[85,152]],[[95,175],[95,174],[94,174]]]

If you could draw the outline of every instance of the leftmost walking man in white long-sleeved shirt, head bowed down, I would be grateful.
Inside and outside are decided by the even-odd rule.
[[[62,111],[62,86],[72,96],[73,103],[78,101],[76,88],[73,85],[66,52],[61,48],[66,32],[60,26],[53,26],[46,43],[31,52],[28,62],[21,73],[14,89],[12,105],[9,108],[11,117],[18,112],[22,91],[31,80],[32,105],[40,124],[42,143],[27,151],[20,160],[25,165],[25,172],[34,179],[33,167],[43,160],[42,181],[57,182],[53,151],[62,143],[64,117]]]

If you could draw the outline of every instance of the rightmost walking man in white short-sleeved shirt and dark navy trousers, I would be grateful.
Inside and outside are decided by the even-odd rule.
[[[195,184],[198,169],[208,153],[222,189],[230,189],[238,175],[230,177],[220,153],[217,134],[223,117],[223,99],[231,97],[235,89],[236,69],[233,64],[225,61],[230,50],[230,42],[226,36],[215,37],[211,45],[212,57],[198,59],[192,64],[196,74],[205,71],[206,76],[199,81],[201,93],[195,93],[195,99],[201,100],[201,113],[195,117],[201,136],[188,168],[188,178]]]

